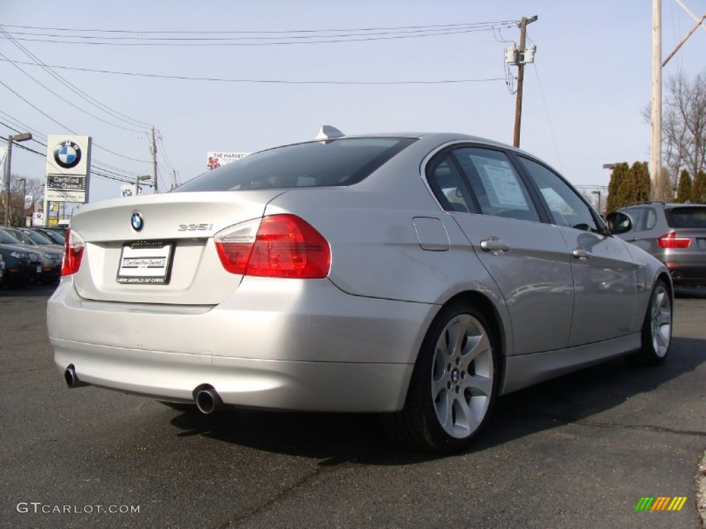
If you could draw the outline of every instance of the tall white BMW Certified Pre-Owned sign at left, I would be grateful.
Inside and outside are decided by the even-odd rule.
[[[45,200],[88,202],[90,147],[90,136],[49,135]]]

